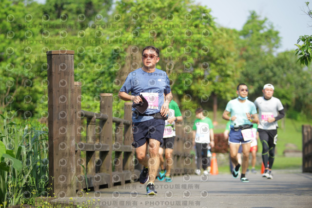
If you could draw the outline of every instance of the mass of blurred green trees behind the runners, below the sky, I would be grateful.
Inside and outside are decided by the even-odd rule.
[[[276,52],[280,37],[270,20],[251,11],[237,31],[217,26],[210,13],[192,0],[2,0],[0,113],[46,116],[46,51],[68,49],[75,50],[82,109],[97,112],[99,93],[113,93],[114,116],[122,116],[118,90],[141,66],[142,48],[155,45],[157,67],[168,73],[184,112],[223,110],[238,83],[249,85],[254,101],[272,83],[290,116],[311,118],[311,67],[293,51]]]

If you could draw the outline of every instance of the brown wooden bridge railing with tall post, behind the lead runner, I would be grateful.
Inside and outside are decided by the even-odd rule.
[[[75,196],[136,181],[141,166],[131,146],[132,103],[125,103],[124,119],[113,117],[111,93],[100,94],[100,113],[82,110],[74,51],[48,51],[47,63],[50,194]],[[191,126],[176,125],[176,135],[172,174],[193,173]]]

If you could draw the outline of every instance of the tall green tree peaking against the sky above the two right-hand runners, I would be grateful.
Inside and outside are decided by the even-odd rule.
[[[273,52],[278,48],[280,37],[268,21],[261,19],[254,11],[240,31],[242,38],[241,56],[246,60],[245,69],[239,79],[240,83],[250,86],[250,98],[254,92],[261,91],[267,77],[271,77],[270,65],[273,63]]]

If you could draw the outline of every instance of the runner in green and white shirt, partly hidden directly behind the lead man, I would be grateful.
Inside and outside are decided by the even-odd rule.
[[[172,159],[172,153],[174,148],[174,142],[176,138],[175,123],[183,120],[181,111],[177,103],[172,100],[169,104],[168,120],[165,121],[165,131],[163,136],[163,143],[159,146],[159,166],[161,168],[157,179],[165,182],[172,182],[171,167],[174,163]],[[164,166],[164,158],[162,156],[165,148],[166,168]]]

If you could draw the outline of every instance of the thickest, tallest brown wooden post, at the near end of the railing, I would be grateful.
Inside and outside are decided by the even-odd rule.
[[[47,63],[50,194],[75,196],[74,51],[48,51]]]

